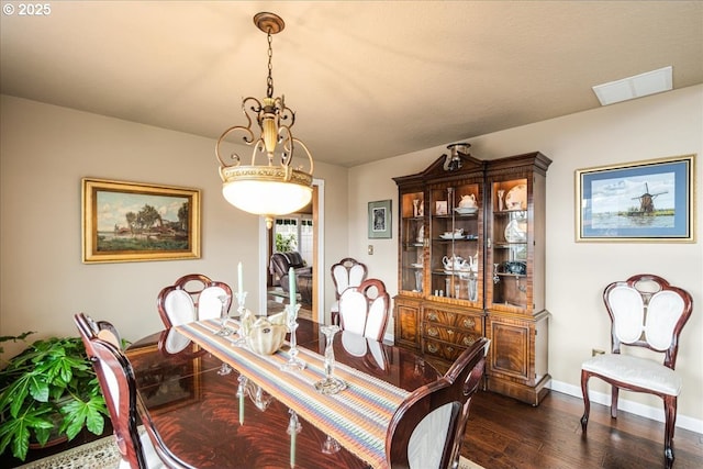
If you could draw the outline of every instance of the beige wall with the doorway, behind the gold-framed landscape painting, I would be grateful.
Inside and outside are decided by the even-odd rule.
[[[85,312],[111,321],[134,340],[161,328],[156,295],[182,275],[202,272],[235,286],[242,261],[244,288],[259,287],[267,267],[258,265],[259,220],[221,196],[214,141],[0,99],[0,334],[76,335],[72,315]],[[81,264],[83,177],[201,189],[202,258]],[[330,260],[323,267],[328,271],[347,253],[347,169],[316,161],[315,178],[326,182],[331,199],[325,200]],[[328,305],[334,287],[327,277]],[[249,294],[247,306],[257,310],[258,295]]]

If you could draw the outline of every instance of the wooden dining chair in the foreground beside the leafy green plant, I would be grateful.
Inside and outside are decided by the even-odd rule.
[[[92,361],[105,399],[112,428],[122,456],[120,469],[155,469],[166,467],[149,439],[148,432],[137,429],[137,395],[134,371],[119,347],[119,338],[110,337],[114,327],[94,322],[79,313],[74,316],[80,337]]]

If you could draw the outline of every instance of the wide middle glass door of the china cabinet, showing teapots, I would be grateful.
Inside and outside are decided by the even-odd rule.
[[[457,182],[429,189],[431,281],[427,295],[482,308],[481,188],[480,183]]]

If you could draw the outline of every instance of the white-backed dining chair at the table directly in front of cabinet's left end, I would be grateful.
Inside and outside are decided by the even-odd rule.
[[[339,297],[339,326],[381,342],[388,327],[390,302],[386,284],[379,279],[366,279],[358,287],[349,287]]]

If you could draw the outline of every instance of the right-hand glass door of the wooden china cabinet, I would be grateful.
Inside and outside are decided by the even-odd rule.
[[[531,213],[526,178],[491,181],[488,216],[487,308],[526,312],[528,291]]]

